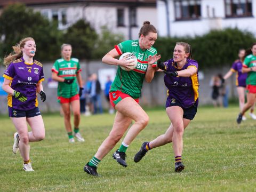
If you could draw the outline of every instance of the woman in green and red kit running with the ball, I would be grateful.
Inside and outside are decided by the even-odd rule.
[[[148,124],[149,117],[138,104],[141,93],[143,79],[151,82],[154,77],[155,69],[153,67],[156,61],[161,58],[157,55],[153,47],[157,39],[157,30],[149,21],[145,21],[140,29],[138,40],[129,40],[119,43],[115,49],[109,51],[103,58],[102,62],[109,65],[117,65],[117,73],[114,82],[109,91],[111,105],[117,110],[114,125],[109,136],[102,142],[97,153],[88,162],[84,171],[91,175],[98,175],[98,163],[105,157],[116,143],[123,137],[129,125],[134,120],[134,124],[127,132],[122,145],[115,151],[113,158],[126,167],[125,152],[133,139]],[[126,52],[132,52],[138,59],[138,65],[131,71],[121,69],[120,66],[130,68],[132,61],[127,61],[124,57],[121,60],[115,59]]]

